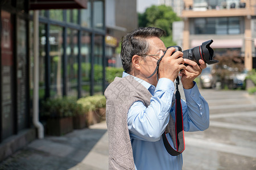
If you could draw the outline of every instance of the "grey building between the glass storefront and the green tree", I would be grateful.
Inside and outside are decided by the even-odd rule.
[[[127,32],[138,27],[136,0],[106,0],[106,66],[122,67],[115,48]]]

